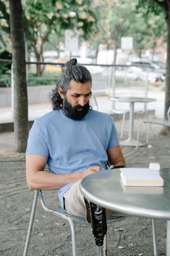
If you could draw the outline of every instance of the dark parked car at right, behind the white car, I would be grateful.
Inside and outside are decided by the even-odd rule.
[[[149,65],[150,66],[149,71],[161,73],[162,76],[166,75],[166,68],[162,68],[162,67],[158,66],[154,61],[138,60],[138,61],[127,62],[126,64],[127,65],[143,65],[143,66]],[[164,77],[164,79],[165,79],[165,77]]]

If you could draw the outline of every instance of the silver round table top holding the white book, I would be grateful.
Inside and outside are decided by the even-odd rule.
[[[170,168],[161,169],[160,176],[163,187],[127,187],[120,169],[103,170],[86,176],[80,189],[90,202],[120,215],[170,219]]]

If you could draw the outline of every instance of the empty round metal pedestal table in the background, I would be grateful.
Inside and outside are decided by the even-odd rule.
[[[153,102],[156,99],[150,98],[139,98],[139,97],[110,97],[112,101],[130,102],[130,113],[129,113],[129,137],[127,140],[119,141],[121,146],[136,146],[136,140],[133,138],[133,118],[134,118],[134,103],[135,102]],[[144,146],[145,143],[139,142],[139,146]]]

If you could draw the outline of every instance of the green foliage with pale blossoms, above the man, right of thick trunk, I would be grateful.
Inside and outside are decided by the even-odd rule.
[[[91,3],[92,0],[24,1],[24,32],[38,60],[43,58],[42,47],[52,30],[60,37],[65,29],[80,29],[84,38],[88,37],[96,22]]]

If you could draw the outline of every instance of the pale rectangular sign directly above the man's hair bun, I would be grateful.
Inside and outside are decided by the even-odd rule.
[[[67,51],[78,51],[79,39],[77,31],[71,29],[65,30],[65,50]]]

